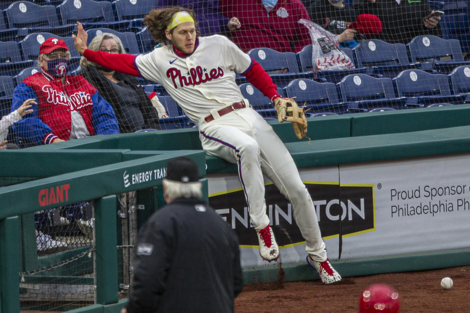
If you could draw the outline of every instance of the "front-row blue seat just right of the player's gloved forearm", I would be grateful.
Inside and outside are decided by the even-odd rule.
[[[284,87],[287,98],[296,97],[299,106],[311,113],[344,113],[346,108],[340,103],[336,86],[333,83],[318,83],[310,79],[294,79]]]

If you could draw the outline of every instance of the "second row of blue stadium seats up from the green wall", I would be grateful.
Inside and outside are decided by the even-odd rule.
[[[126,53],[139,54],[153,49],[155,42],[146,30],[139,35],[132,32],[118,32],[109,28],[89,29],[88,40],[97,34],[110,32],[119,37]],[[47,38],[54,37],[51,33],[33,33],[21,42],[0,42],[0,75],[16,76],[21,70],[34,66],[39,46]],[[57,37],[57,36],[55,36]],[[73,46],[71,37],[61,37],[67,45]],[[139,44],[140,43],[140,44]],[[365,73],[395,77],[401,70],[419,68],[431,72],[449,73],[453,68],[470,64],[464,61],[458,40],[442,39],[436,36],[418,36],[408,45],[388,44],[380,40],[366,40],[352,50],[343,48],[356,68],[350,70],[323,70],[317,74],[311,72],[312,46],[307,45],[297,54],[293,52],[277,52],[269,48],[257,48],[248,52],[263,68],[270,73],[287,70],[287,73],[275,74],[273,79],[282,87],[294,78],[318,78],[320,80],[338,82],[347,74]],[[71,48],[71,71],[79,66],[80,56]],[[296,77],[303,73],[301,77]],[[22,76],[23,77],[23,76]],[[239,77],[239,83],[244,83]]]

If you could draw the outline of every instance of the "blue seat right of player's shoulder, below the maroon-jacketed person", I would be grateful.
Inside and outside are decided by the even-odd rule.
[[[299,78],[297,57],[293,52],[278,52],[269,48],[256,48],[248,51],[248,55],[268,72],[278,87],[285,87],[291,80]],[[287,70],[287,72],[278,73],[280,70]]]

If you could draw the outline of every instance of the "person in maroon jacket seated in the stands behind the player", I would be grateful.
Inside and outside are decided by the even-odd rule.
[[[228,37],[244,52],[261,47],[299,52],[312,43],[308,29],[299,24],[310,20],[300,0],[220,0],[219,5],[223,15],[240,20],[240,29]]]

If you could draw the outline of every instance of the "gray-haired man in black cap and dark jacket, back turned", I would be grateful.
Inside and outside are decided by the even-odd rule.
[[[230,225],[201,200],[197,164],[171,159],[167,203],[142,226],[127,313],[234,312],[243,287],[240,250]]]

